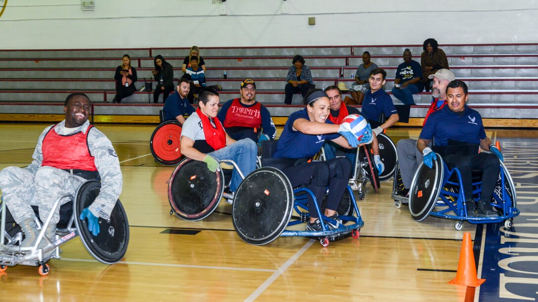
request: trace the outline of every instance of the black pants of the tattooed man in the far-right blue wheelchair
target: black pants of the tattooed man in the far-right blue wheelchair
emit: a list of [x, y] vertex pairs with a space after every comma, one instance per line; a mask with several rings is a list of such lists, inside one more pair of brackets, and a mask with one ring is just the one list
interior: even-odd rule
[[462, 174], [463, 191], [465, 199], [472, 198], [472, 170], [482, 171], [482, 201], [491, 202], [493, 190], [499, 179], [499, 159], [491, 153], [478, 153], [476, 155], [453, 155], [444, 157], [449, 169], [457, 167]]

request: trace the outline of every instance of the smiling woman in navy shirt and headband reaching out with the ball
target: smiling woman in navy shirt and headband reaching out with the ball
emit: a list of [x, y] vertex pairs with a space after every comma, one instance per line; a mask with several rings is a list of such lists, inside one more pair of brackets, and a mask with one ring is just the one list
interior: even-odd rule
[[[330, 114], [329, 97], [320, 89], [306, 96], [306, 107], [292, 113], [277, 142], [273, 158], [282, 159], [287, 167], [282, 172], [289, 178], [293, 187], [305, 185], [316, 197], [317, 204], [323, 201], [329, 187], [327, 208], [324, 215], [330, 221], [329, 227], [337, 228], [342, 223], [336, 209], [351, 177], [351, 162], [345, 157], [337, 157], [324, 162], [307, 162], [320, 152], [325, 140], [330, 140], [344, 148], [357, 148], [372, 140], [372, 129], [368, 124], [360, 140], [345, 125], [334, 125], [328, 119]], [[308, 199], [310, 221], [307, 231], [322, 231], [320, 218], [317, 217], [313, 200]]]

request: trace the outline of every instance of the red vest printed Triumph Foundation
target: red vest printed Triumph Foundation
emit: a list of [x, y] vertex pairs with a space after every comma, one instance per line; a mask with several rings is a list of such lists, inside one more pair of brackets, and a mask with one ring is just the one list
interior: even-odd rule
[[233, 99], [226, 119], [224, 120], [224, 128], [230, 127], [249, 127], [260, 128], [261, 126], [261, 104], [256, 102], [252, 107], [244, 107], [240, 104], [238, 98]]

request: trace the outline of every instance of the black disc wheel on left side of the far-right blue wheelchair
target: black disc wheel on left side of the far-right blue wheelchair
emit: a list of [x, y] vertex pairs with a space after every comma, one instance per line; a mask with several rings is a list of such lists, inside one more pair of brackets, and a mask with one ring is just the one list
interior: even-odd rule
[[421, 163], [416, 170], [409, 192], [409, 212], [416, 221], [428, 217], [437, 203], [441, 192], [444, 167], [441, 155], [437, 154], [433, 169]]

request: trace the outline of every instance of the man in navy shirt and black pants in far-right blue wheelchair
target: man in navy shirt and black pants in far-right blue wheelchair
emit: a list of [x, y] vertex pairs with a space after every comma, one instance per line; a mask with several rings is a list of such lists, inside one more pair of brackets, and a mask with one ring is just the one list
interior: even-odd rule
[[[486, 136], [480, 114], [465, 105], [468, 98], [467, 85], [463, 81], [450, 82], [447, 86], [447, 105], [430, 114], [416, 147], [424, 155], [424, 164], [431, 168], [433, 160], [437, 159], [436, 154], [428, 147], [431, 139], [435, 138], [436, 147], [457, 145], [458, 147], [452, 150], [445, 148], [443, 160], [449, 168], [457, 167], [461, 172], [468, 215], [475, 215], [471, 170], [476, 169], [482, 170], [482, 194], [478, 202], [477, 216], [495, 217], [497, 213], [493, 211], [490, 202], [499, 177], [499, 160], [502, 161], [503, 157]], [[471, 146], [468, 149], [472, 150], [470, 155], [458, 152], [469, 145]], [[478, 146], [492, 153], [478, 153]]]

